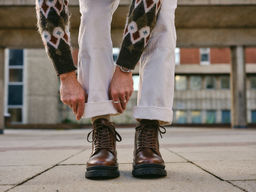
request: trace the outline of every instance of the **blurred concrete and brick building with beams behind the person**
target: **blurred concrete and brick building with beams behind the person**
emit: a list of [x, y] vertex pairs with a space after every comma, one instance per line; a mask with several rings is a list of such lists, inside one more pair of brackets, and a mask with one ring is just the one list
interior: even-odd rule
[[[117, 59], [129, 0], [121, 0], [112, 20]], [[77, 64], [80, 13], [69, 1], [71, 41]], [[178, 0], [173, 124], [246, 127], [256, 123], [256, 2]], [[11, 124], [90, 124], [75, 120], [60, 101], [60, 80], [36, 30], [34, 0], [0, 0], [0, 113]], [[139, 66], [127, 110], [113, 117], [135, 124]], [[0, 128], [4, 117], [0, 118]]]

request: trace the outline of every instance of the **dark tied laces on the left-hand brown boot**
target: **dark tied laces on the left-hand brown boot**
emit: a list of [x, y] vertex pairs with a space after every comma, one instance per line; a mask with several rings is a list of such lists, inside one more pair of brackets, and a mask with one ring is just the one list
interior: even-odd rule
[[[92, 141], [89, 141], [89, 136], [91, 133], [92, 133]], [[92, 131], [88, 133], [87, 141], [95, 142], [94, 143], [95, 151], [100, 148], [110, 148], [111, 150], [113, 150], [112, 136], [114, 136], [116, 141], [122, 140], [121, 136], [118, 134], [118, 132], [116, 132], [115, 128], [112, 125], [97, 124], [92, 129]], [[117, 139], [117, 137], [119, 139]]]

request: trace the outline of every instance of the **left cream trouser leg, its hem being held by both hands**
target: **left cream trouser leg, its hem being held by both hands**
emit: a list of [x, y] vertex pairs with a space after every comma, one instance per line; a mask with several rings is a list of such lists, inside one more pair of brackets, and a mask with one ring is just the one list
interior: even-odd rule
[[110, 23], [119, 0], [79, 0], [78, 81], [88, 94], [84, 118], [117, 114], [108, 88], [114, 73]]

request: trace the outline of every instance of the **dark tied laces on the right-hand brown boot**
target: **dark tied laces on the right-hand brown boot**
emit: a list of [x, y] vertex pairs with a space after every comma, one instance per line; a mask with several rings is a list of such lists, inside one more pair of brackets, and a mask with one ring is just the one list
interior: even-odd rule
[[[160, 130], [160, 127], [164, 129], [164, 131]], [[145, 123], [135, 128], [136, 131], [139, 132], [139, 145], [138, 149], [140, 148], [152, 148], [156, 149], [156, 132], [159, 131], [161, 138], [162, 134], [166, 132], [165, 128], [157, 123]]]

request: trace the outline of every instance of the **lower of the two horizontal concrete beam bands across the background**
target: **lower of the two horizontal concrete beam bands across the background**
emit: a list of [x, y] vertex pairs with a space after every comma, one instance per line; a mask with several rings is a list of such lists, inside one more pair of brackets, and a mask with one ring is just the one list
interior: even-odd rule
[[[112, 29], [114, 47], [119, 47], [123, 29]], [[177, 29], [177, 47], [256, 46], [256, 28], [251, 29]], [[0, 47], [43, 48], [36, 29], [0, 29]], [[78, 29], [71, 30], [71, 44], [78, 48]]]

